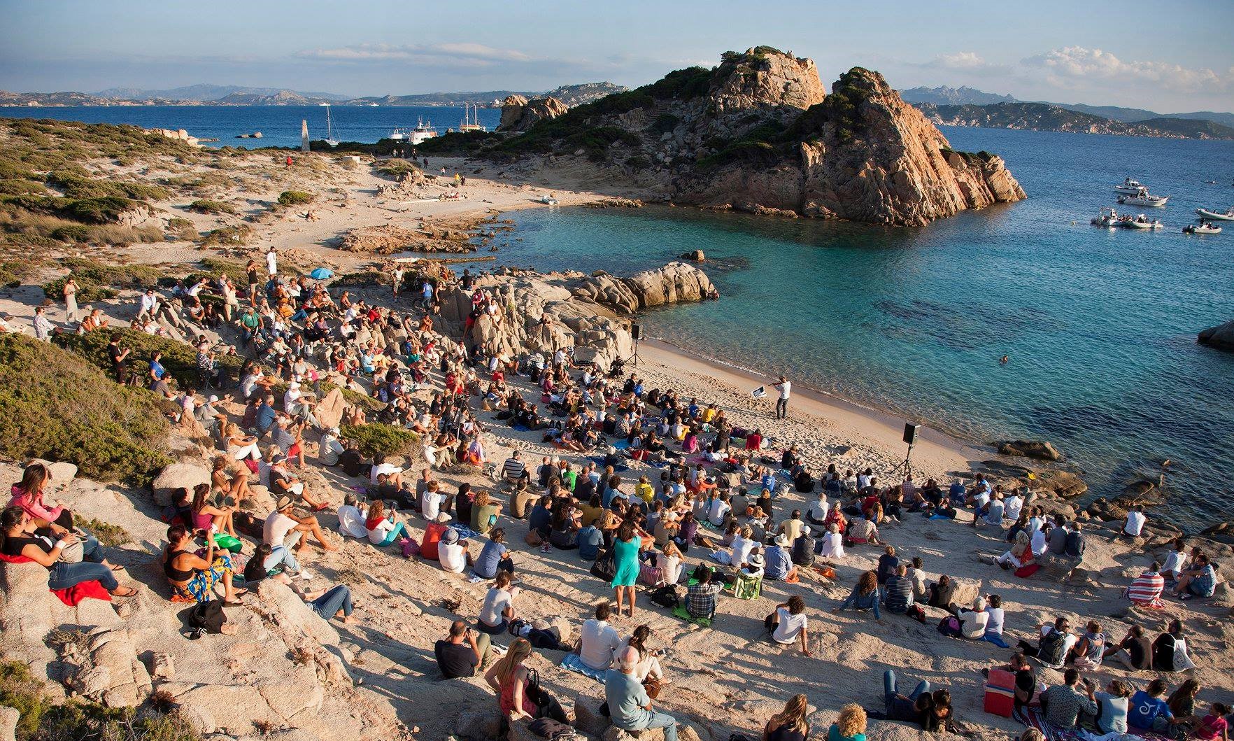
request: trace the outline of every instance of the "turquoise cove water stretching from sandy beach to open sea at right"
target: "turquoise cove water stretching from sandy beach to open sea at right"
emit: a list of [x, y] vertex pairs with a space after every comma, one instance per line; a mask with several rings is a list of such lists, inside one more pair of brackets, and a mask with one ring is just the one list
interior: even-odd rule
[[[927, 228], [538, 209], [499, 263], [628, 274], [703, 249], [722, 300], [649, 312], [653, 336], [975, 440], [1050, 440], [1099, 494], [1169, 458], [1181, 519], [1229, 510], [1234, 356], [1196, 333], [1234, 319], [1234, 228], [1181, 228], [1234, 203], [1234, 142], [945, 133], [1029, 200]], [[1174, 196], [1161, 232], [1088, 226], [1127, 175]]]

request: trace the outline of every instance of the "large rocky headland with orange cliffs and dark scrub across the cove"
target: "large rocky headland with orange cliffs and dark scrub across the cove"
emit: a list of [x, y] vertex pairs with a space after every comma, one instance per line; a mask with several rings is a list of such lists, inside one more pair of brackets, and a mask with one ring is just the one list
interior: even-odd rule
[[1025, 198], [1000, 157], [954, 151], [877, 72], [855, 67], [827, 93], [812, 61], [769, 47], [565, 117], [502, 153], [585, 156], [659, 200], [768, 215], [922, 226]]

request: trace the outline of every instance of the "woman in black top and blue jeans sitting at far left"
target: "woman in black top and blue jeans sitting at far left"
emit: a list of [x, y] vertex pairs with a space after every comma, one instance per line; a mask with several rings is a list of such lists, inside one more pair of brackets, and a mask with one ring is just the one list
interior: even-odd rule
[[[58, 540], [53, 541], [53, 537]], [[121, 587], [116, 580], [114, 572], [121, 571], [121, 567], [107, 563], [97, 541], [83, 543], [79, 563], [60, 561], [64, 551], [78, 543], [83, 541], [72, 532], [53, 535], [47, 529], [39, 529], [30, 513], [20, 506], [10, 506], [0, 513], [0, 553], [10, 558], [28, 558], [47, 568], [48, 589], [72, 589], [83, 582], [94, 580], [112, 597], [137, 594], [136, 589]]]

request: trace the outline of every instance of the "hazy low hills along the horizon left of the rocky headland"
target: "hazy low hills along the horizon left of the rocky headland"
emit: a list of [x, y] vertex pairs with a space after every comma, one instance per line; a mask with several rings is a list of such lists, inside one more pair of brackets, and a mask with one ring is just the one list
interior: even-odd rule
[[552, 95], [566, 106], [598, 100], [626, 88], [613, 83], [582, 83], [561, 85], [554, 90], [489, 90], [485, 93], [427, 93], [420, 95], [385, 95], [347, 98], [333, 93], [300, 93], [280, 88], [243, 88], [238, 85], [188, 85], [169, 90], [109, 88], [99, 93], [9, 93], [0, 90], [0, 106], [78, 106], [78, 105], [501, 105], [510, 95], [538, 98]]

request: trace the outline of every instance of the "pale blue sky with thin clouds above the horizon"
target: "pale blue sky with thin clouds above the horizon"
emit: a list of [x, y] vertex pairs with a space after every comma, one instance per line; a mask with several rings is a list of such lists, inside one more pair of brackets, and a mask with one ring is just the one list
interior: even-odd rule
[[823, 83], [863, 65], [898, 89], [1234, 110], [1234, 0], [0, 0], [0, 89], [196, 83], [343, 95], [654, 82], [768, 44]]

